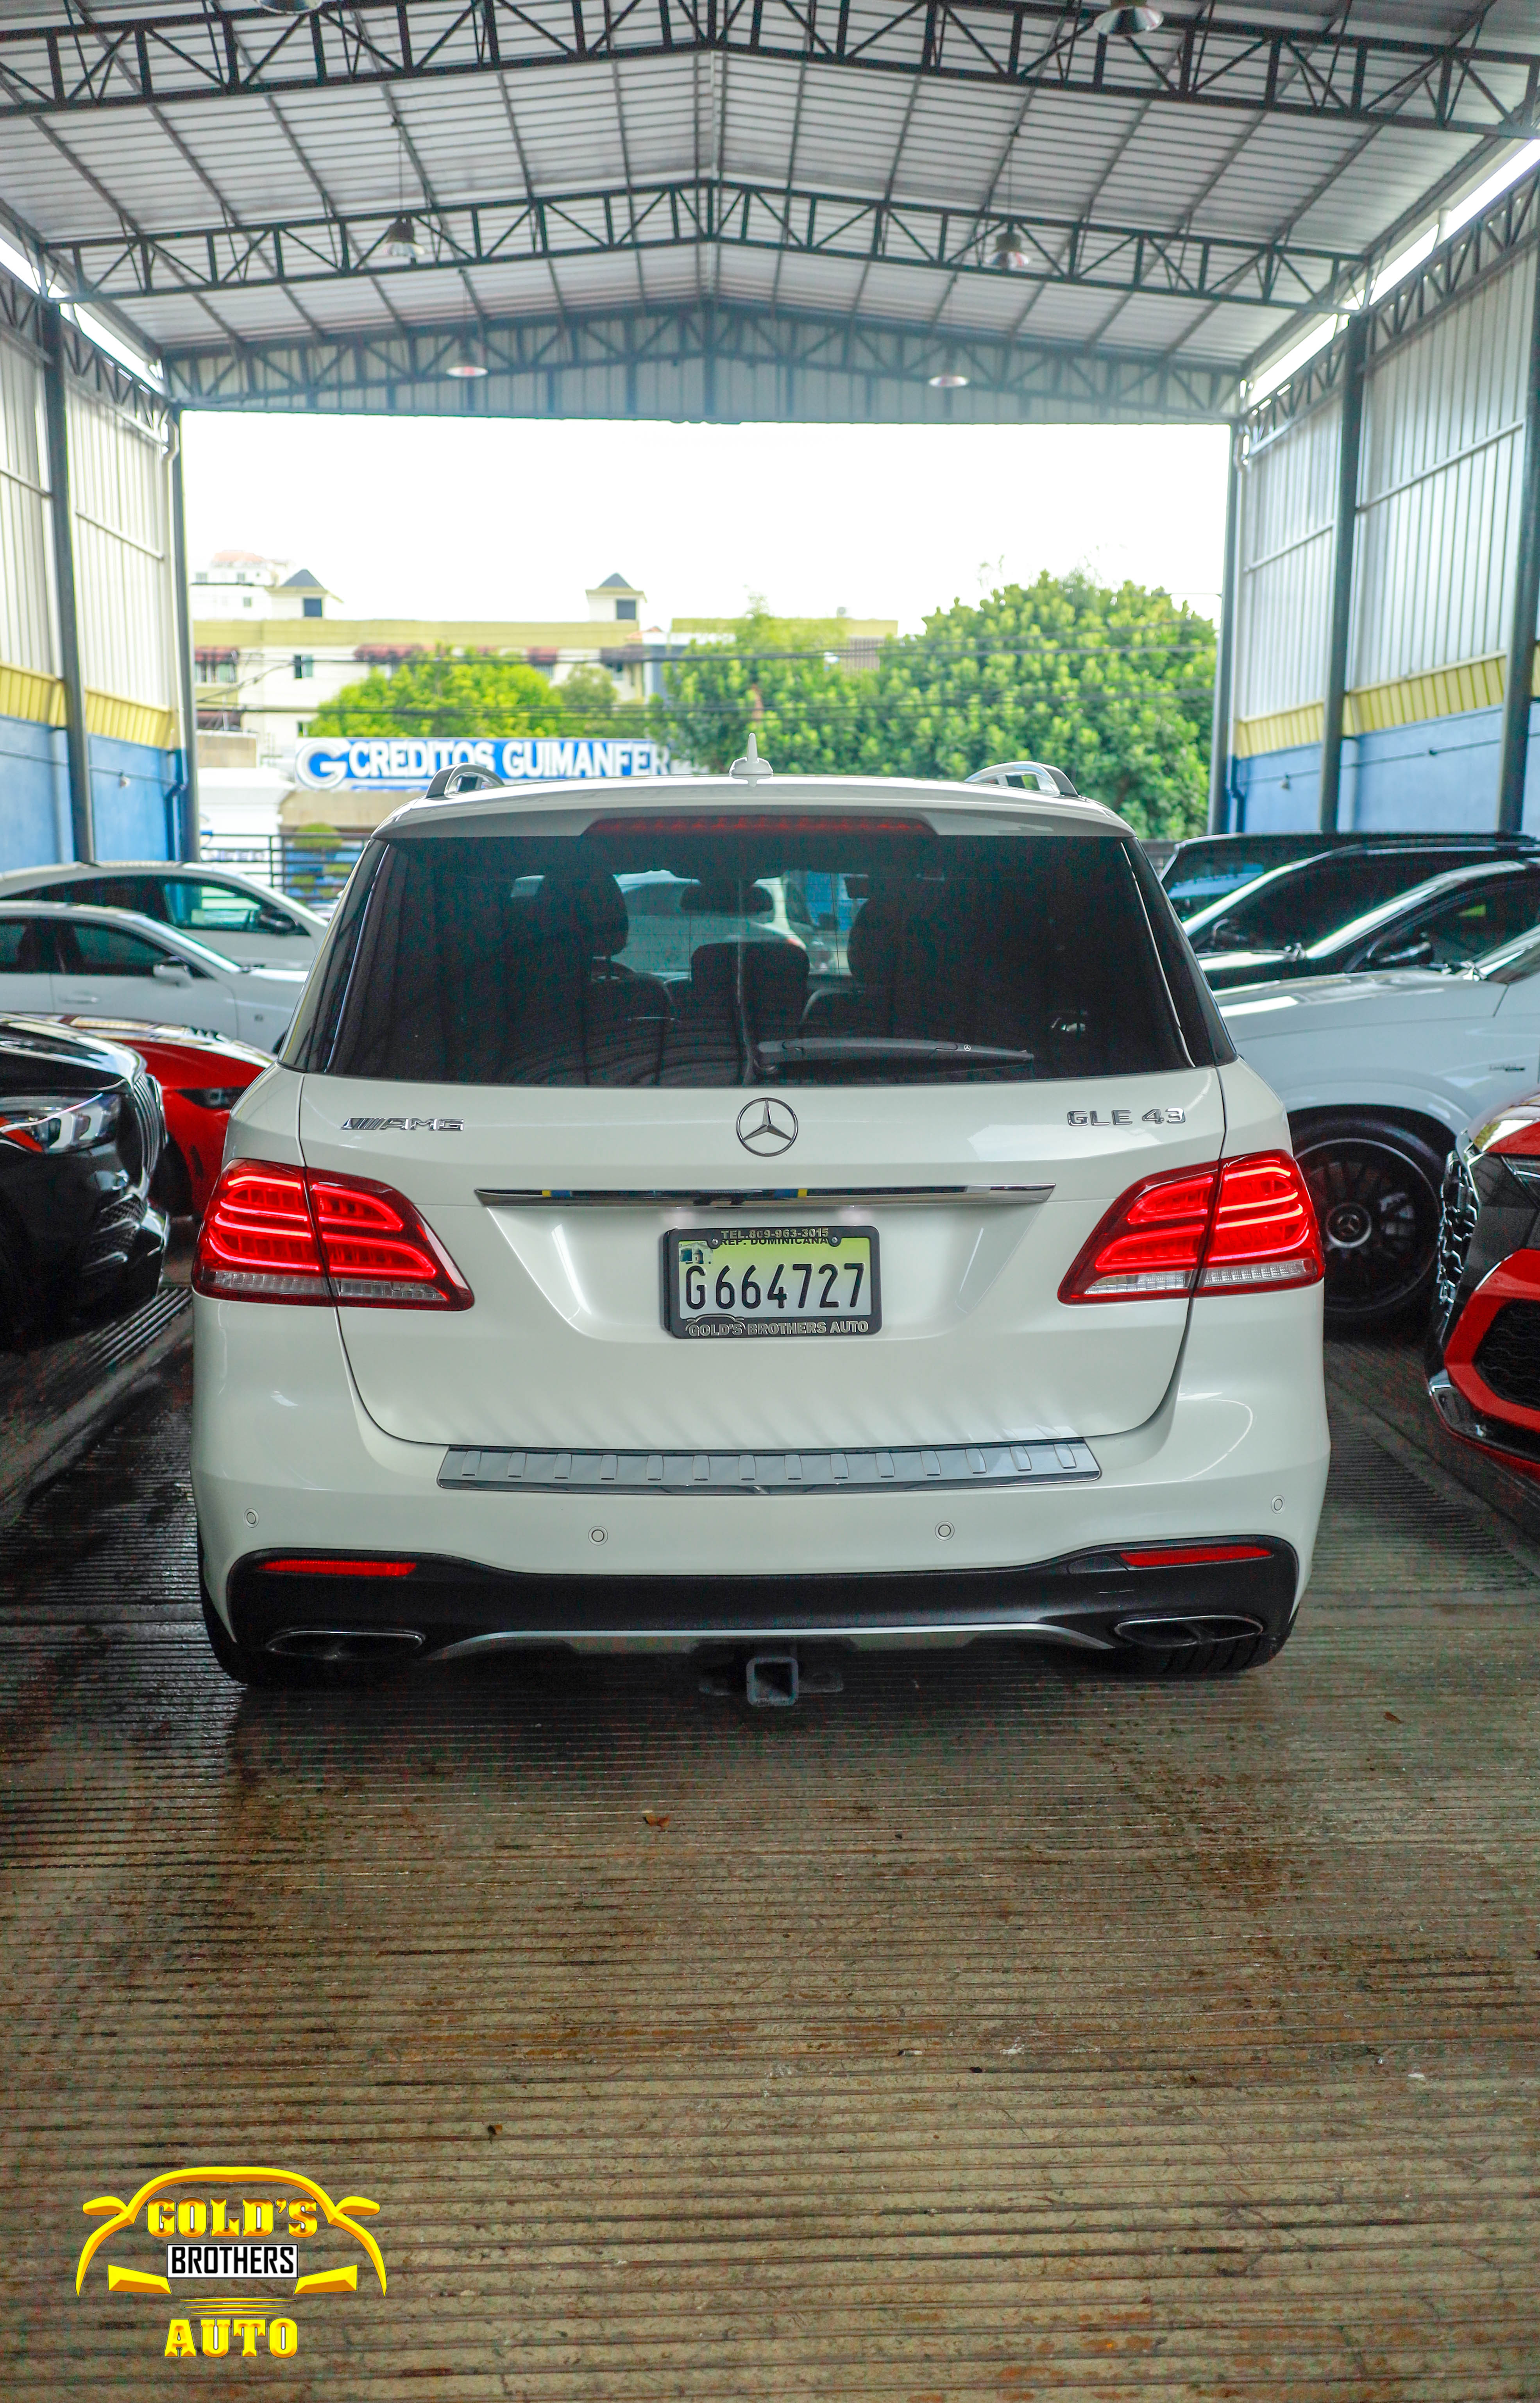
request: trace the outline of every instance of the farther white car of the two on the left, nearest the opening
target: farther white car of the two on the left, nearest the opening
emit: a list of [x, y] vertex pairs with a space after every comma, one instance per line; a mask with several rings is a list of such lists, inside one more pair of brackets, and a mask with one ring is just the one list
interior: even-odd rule
[[65, 901], [72, 908], [132, 908], [171, 932], [192, 935], [247, 968], [308, 971], [327, 920], [238, 867], [199, 860], [62, 860], [0, 875], [0, 901]]

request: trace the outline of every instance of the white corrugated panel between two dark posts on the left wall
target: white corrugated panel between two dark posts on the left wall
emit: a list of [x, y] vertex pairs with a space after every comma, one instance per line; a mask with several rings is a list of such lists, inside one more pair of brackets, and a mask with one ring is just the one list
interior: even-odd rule
[[166, 445], [70, 387], [79, 658], [94, 692], [175, 709]]

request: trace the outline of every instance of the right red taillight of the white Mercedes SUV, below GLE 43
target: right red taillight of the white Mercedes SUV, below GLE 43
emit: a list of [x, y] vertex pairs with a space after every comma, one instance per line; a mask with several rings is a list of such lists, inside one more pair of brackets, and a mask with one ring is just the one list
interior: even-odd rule
[[1112, 1204], [1062, 1302], [1139, 1302], [1180, 1293], [1314, 1286], [1321, 1238], [1288, 1151], [1144, 1177]]

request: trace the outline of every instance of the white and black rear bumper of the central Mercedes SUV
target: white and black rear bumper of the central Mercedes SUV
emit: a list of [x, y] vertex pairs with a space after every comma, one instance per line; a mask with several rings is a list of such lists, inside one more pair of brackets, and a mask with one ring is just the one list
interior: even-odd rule
[[[1199, 1305], [1156, 1415], [1091, 1439], [1093, 1478], [978, 1475], [944, 1492], [896, 1480], [807, 1492], [444, 1487], [442, 1444], [389, 1437], [365, 1413], [329, 1310], [197, 1295], [195, 1343], [199, 1536], [209, 1598], [238, 1634], [238, 1615], [257, 1610], [269, 1584], [291, 1596], [279, 1608], [296, 1608], [293, 1581], [262, 1574], [257, 1588], [257, 1555], [368, 1552], [432, 1562], [416, 1591], [440, 1596], [442, 1624], [509, 1641], [877, 1641], [1050, 1632], [1050, 1617], [1074, 1641], [1064, 1610], [1122, 1610], [1134, 1586], [1148, 1593], [1146, 1579], [1168, 1572], [1098, 1593], [1072, 1562], [1237, 1536], [1285, 1564], [1259, 1576], [1266, 1610], [1247, 1605], [1276, 1627], [1305, 1591], [1326, 1487], [1319, 1288]], [[382, 1581], [368, 1584], [377, 1612]], [[324, 1581], [332, 1610], [341, 1586]], [[473, 1608], [456, 1600], [471, 1588]], [[1196, 1608], [1192, 1579], [1180, 1605]]]

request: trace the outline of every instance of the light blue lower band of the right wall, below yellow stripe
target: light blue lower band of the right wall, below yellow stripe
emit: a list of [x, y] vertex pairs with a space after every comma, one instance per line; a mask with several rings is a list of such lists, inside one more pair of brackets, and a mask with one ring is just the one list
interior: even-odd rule
[[[1420, 718], [1343, 743], [1338, 824], [1365, 834], [1485, 834], [1497, 819], [1502, 709]], [[1321, 807], [1321, 750], [1259, 752], [1230, 762], [1230, 824], [1249, 834], [1314, 827]], [[1530, 709], [1526, 834], [1540, 834], [1540, 702]]]

